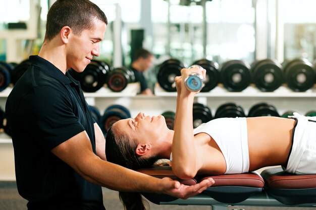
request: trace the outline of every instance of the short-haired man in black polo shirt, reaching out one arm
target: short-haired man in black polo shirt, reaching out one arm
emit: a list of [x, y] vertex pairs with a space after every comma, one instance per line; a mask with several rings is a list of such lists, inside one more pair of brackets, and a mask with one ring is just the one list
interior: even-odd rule
[[186, 186], [107, 161], [104, 135], [68, 72], [83, 72], [99, 56], [107, 24], [88, 0], [57, 0], [39, 54], [30, 56], [31, 66], [8, 96], [16, 182], [29, 210], [104, 210], [101, 186], [185, 199], [214, 183]]

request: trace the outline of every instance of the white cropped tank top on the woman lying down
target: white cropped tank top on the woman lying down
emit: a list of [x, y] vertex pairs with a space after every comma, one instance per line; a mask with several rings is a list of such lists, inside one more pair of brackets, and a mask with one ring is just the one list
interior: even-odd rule
[[226, 161], [225, 174], [249, 171], [247, 121], [244, 117], [218, 118], [199, 125], [193, 134], [207, 133], [221, 149]]

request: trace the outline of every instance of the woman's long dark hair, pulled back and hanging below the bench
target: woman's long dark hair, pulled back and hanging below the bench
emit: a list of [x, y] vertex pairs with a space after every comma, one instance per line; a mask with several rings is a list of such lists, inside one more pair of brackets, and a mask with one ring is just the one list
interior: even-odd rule
[[[113, 124], [106, 135], [106, 156], [109, 162], [137, 170], [152, 166], [157, 157], [139, 157], [135, 150], [137, 141], [132, 141], [129, 136], [120, 132]], [[119, 192], [120, 200], [126, 210], [145, 210], [144, 199], [137, 192]]]

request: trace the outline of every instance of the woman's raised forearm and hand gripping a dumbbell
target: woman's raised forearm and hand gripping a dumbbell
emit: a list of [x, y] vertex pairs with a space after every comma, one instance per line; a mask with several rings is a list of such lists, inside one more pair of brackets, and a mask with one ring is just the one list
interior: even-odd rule
[[197, 92], [190, 92], [184, 85], [185, 78], [193, 72], [202, 74], [205, 78], [205, 70], [201, 71], [198, 67], [183, 68], [181, 76], [175, 78], [178, 95], [172, 144], [172, 170], [181, 179], [193, 178], [198, 170], [192, 116], [194, 96]]

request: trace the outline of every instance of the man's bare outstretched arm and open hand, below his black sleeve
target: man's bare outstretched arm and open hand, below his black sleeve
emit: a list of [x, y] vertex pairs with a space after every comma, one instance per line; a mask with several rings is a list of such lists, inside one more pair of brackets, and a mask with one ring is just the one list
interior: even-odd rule
[[122, 166], [103, 161], [91, 149], [85, 131], [71, 137], [51, 152], [71, 166], [86, 180], [113, 190], [164, 193], [188, 198], [214, 183], [213, 179], [186, 186], [169, 178], [154, 178]]

